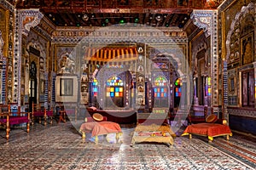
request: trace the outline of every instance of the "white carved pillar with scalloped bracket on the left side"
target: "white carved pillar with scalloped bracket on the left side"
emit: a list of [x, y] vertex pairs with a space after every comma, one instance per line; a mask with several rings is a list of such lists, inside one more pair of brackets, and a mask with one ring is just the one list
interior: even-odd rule
[[21, 86], [21, 45], [22, 35], [27, 36], [32, 26], [37, 26], [43, 18], [39, 9], [18, 10], [15, 9], [15, 27], [14, 27], [14, 90], [13, 102], [20, 106], [20, 86]]

